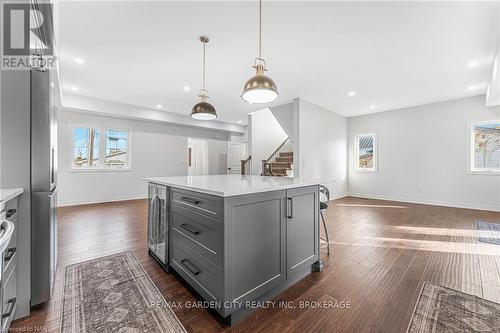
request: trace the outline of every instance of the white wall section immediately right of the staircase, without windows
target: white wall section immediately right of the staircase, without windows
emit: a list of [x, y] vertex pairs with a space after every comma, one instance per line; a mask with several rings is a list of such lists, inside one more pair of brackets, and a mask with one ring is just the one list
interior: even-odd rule
[[345, 196], [348, 190], [347, 119], [303, 99], [297, 102], [297, 174], [301, 179], [323, 179], [332, 198]]

